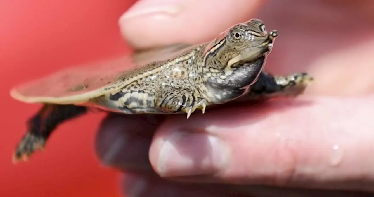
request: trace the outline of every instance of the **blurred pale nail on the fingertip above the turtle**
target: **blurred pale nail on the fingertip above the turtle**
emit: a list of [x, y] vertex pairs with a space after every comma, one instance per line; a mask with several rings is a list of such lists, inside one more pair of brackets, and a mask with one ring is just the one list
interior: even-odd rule
[[180, 9], [180, 4], [175, 0], [140, 0], [123, 14], [120, 20], [148, 14], [175, 15]]

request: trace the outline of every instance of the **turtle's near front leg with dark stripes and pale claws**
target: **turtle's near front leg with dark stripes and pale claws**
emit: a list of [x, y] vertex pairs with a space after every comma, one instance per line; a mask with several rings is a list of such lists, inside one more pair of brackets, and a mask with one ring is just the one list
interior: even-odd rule
[[202, 113], [205, 113], [206, 100], [188, 84], [160, 87], [155, 96], [155, 104], [162, 112], [186, 112], [187, 118], [190, 118], [191, 113], [196, 109], [200, 109]]

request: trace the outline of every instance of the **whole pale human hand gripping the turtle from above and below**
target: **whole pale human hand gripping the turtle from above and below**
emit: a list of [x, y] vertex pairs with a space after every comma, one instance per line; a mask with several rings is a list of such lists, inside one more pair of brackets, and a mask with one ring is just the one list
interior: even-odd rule
[[128, 197], [374, 194], [374, 1], [216, 2], [140, 0], [119, 25], [141, 49], [198, 43], [259, 18], [279, 30], [266, 70], [305, 71], [315, 82], [296, 99], [229, 106], [190, 119], [109, 116], [96, 149], [102, 163], [122, 170], [122, 192]]

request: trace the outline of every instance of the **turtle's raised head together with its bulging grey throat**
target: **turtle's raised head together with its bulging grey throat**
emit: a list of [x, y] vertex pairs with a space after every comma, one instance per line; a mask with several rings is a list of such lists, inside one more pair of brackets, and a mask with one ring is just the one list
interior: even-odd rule
[[246, 87], [254, 84], [263, 70], [277, 36], [277, 30], [268, 32], [259, 19], [236, 24], [221, 33], [203, 50], [206, 85], [218, 95], [220, 90], [248, 90]]

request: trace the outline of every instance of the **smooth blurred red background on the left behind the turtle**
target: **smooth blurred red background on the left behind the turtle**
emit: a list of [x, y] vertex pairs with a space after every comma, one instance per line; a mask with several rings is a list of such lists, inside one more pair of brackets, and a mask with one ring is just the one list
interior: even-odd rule
[[9, 89], [74, 64], [129, 51], [119, 16], [135, 0], [0, 1], [0, 196], [115, 197], [116, 172], [103, 167], [94, 139], [103, 113], [58, 127], [47, 148], [27, 163], [12, 152], [39, 105], [13, 100]]

